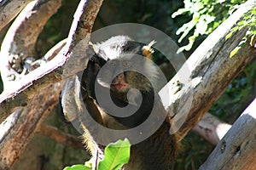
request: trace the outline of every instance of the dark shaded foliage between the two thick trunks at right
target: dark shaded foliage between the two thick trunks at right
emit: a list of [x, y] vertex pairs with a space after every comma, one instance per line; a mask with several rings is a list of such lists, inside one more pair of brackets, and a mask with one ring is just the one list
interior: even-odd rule
[[248, 65], [238, 77], [230, 83], [224, 94], [215, 102], [210, 112], [232, 124], [242, 111], [255, 98], [256, 61]]

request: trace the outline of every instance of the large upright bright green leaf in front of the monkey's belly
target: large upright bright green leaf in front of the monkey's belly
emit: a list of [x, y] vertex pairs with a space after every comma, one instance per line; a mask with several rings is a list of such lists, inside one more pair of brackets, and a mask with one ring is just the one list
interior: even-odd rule
[[105, 148], [104, 159], [99, 162], [98, 170], [117, 170], [128, 163], [131, 144], [128, 139], [118, 140]]

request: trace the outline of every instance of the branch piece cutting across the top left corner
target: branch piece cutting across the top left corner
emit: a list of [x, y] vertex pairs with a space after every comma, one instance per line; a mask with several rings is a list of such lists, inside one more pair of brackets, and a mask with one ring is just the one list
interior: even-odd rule
[[0, 2], [0, 31], [32, 0], [3, 0]]

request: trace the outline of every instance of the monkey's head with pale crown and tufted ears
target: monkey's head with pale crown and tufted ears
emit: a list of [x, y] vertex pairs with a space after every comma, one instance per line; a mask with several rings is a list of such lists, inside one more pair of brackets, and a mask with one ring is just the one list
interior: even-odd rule
[[91, 44], [97, 57], [105, 60], [96, 81], [113, 94], [127, 94], [131, 89], [147, 92], [156, 88], [158, 67], [151, 60], [152, 46], [134, 42], [130, 37], [117, 36], [106, 42]]

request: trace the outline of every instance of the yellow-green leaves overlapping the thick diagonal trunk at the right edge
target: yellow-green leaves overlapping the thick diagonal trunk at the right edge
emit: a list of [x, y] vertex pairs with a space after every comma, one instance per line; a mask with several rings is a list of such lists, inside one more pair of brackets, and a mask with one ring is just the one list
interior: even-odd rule
[[250, 40], [250, 45], [251, 46], [255, 46], [255, 44], [253, 44], [253, 39], [254, 37], [256, 37], [256, 8], [253, 8], [252, 11], [248, 12], [247, 14], [245, 14], [244, 16], [244, 20], [241, 20], [240, 22], [238, 22], [237, 26], [234, 27], [230, 33], [226, 36], [226, 40], [229, 39], [230, 37], [232, 37], [232, 35], [236, 32], [236, 31], [240, 31], [242, 28], [247, 26], [247, 33], [246, 36], [242, 38], [241, 42], [238, 44], [238, 46], [233, 49], [233, 51], [231, 51], [230, 53], [230, 58], [233, 57], [238, 50], [247, 42], [247, 40]]

